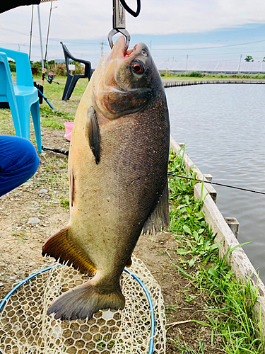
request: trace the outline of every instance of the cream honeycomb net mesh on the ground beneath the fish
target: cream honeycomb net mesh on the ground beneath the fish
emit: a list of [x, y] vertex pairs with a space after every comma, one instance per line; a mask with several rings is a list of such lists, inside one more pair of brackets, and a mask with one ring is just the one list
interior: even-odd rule
[[[153, 353], [165, 353], [165, 312], [160, 286], [141, 260], [132, 257], [131, 273], [146, 286], [153, 302]], [[60, 321], [47, 316], [49, 304], [88, 277], [68, 265], [39, 273], [13, 292], [0, 313], [1, 354], [148, 353], [151, 311], [139, 282], [122, 274], [124, 310], [103, 310], [88, 320]]]

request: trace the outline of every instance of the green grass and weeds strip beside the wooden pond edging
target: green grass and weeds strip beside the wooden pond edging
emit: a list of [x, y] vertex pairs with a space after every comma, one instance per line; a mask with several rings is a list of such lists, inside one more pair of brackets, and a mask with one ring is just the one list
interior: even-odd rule
[[[175, 156], [170, 153], [169, 171], [195, 177], [194, 173], [187, 174], [183, 157], [179, 154]], [[222, 338], [225, 353], [264, 353], [261, 321], [254, 310], [257, 289], [252, 288], [250, 279], [245, 282], [235, 278], [230, 265], [226, 263], [231, 249], [223, 258], [220, 257], [220, 244], [214, 244], [213, 232], [204, 220], [204, 200], [194, 198], [195, 183], [194, 180], [176, 177], [170, 177], [169, 181], [172, 206], [170, 232], [182, 244], [176, 250], [183, 257], [184, 264], [182, 268], [178, 265], [175, 267], [206, 295], [208, 305], [208, 321], [196, 322], [211, 328], [212, 342], [214, 336]], [[192, 299], [188, 300], [192, 302]], [[186, 350], [184, 353], [193, 352]]]

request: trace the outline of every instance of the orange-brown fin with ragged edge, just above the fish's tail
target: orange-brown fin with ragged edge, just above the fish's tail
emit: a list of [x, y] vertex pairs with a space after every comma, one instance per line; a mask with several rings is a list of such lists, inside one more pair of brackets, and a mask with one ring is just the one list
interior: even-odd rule
[[69, 261], [73, 268], [89, 276], [95, 275], [96, 268], [86, 254], [68, 237], [68, 227], [49, 237], [42, 246], [42, 256], [52, 256], [60, 263]]

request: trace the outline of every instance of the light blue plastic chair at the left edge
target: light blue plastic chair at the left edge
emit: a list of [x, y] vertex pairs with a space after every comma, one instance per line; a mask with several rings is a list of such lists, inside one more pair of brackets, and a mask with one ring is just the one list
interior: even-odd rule
[[[0, 102], [8, 102], [16, 135], [30, 140], [30, 112], [33, 118], [37, 151], [42, 152], [40, 107], [37, 88], [33, 84], [30, 59], [26, 53], [0, 47]], [[13, 86], [7, 58], [16, 62], [16, 86]]]

